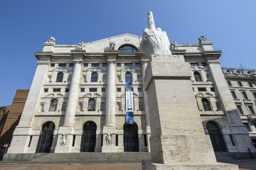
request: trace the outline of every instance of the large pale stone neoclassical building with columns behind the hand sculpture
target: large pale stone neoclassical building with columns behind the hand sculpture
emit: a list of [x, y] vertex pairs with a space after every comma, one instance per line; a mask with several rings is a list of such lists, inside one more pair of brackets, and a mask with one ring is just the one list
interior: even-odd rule
[[[36, 73], [8, 153], [150, 152], [149, 59], [139, 50], [141, 40], [124, 34], [56, 45], [51, 37], [35, 52]], [[215, 152], [255, 152], [225, 81], [230, 77], [220, 68], [221, 51], [203, 36], [198, 44], [172, 42], [170, 48], [191, 65], [196, 109]], [[126, 82], [133, 87], [134, 125], [126, 123]], [[251, 83], [255, 87], [255, 78]], [[255, 101], [250, 104], [255, 111]]]

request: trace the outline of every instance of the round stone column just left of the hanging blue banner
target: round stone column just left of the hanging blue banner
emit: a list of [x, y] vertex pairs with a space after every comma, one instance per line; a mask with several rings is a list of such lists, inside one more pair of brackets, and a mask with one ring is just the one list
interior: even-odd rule
[[[116, 152], [115, 147], [115, 108], [116, 108], [116, 71], [115, 61], [118, 54], [117, 50], [106, 50], [107, 55], [107, 96], [106, 96], [106, 115], [105, 115], [105, 126], [103, 127], [103, 145], [102, 152]], [[112, 145], [107, 145], [106, 137], [107, 134], [112, 136]]]

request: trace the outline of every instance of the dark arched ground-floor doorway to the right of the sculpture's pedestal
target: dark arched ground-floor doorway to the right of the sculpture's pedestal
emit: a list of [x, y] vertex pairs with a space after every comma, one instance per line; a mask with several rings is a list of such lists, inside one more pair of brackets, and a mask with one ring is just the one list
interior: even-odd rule
[[227, 152], [227, 148], [225, 146], [225, 142], [223, 139], [223, 134], [221, 130], [218, 128], [218, 125], [216, 125], [216, 123], [209, 121], [206, 124], [206, 128], [210, 135], [210, 141], [212, 142], [213, 150], [215, 152]]

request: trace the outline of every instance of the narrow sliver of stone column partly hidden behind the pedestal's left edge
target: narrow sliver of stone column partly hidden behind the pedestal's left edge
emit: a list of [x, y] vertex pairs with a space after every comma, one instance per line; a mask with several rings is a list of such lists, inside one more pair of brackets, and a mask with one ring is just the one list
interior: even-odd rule
[[147, 94], [145, 91], [145, 82], [144, 82], [145, 70], [148, 62], [149, 62], [148, 59], [142, 59], [143, 98], [144, 98], [144, 111], [146, 114], [146, 143], [148, 144], [148, 150], [150, 152], [149, 137], [151, 135], [151, 130], [150, 130], [150, 120], [149, 120], [149, 103], [148, 103]]

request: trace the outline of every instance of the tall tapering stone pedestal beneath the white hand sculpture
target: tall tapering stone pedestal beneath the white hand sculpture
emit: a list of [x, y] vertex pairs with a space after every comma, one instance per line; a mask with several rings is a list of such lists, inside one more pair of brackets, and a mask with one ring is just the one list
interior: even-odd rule
[[151, 160], [143, 169], [238, 169], [218, 164], [205, 135], [183, 55], [152, 55], [144, 77]]

